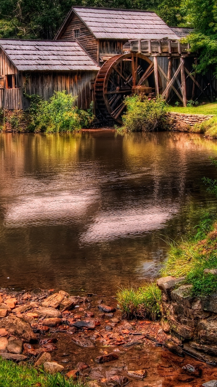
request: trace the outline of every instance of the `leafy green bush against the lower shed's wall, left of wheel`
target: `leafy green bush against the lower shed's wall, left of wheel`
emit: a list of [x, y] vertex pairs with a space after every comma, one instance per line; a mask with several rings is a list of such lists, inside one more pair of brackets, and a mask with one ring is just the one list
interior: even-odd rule
[[34, 132], [73, 132], [88, 128], [94, 120], [93, 104], [90, 109], [82, 110], [74, 106], [75, 98], [66, 91], [56, 91], [49, 101], [33, 94], [29, 114], [29, 129]]

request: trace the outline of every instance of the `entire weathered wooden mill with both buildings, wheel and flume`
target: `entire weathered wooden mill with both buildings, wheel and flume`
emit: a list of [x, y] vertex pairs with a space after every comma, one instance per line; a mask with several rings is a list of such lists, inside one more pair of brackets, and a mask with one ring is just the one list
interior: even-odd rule
[[183, 104], [212, 95], [214, 83], [198, 84], [191, 74], [195, 55], [180, 43], [188, 32], [154, 12], [73, 7], [54, 41], [0, 39], [0, 107], [26, 110], [23, 91], [47, 100], [66, 90], [81, 108], [95, 99], [99, 118], [109, 123], [120, 122], [123, 98], [134, 92]]

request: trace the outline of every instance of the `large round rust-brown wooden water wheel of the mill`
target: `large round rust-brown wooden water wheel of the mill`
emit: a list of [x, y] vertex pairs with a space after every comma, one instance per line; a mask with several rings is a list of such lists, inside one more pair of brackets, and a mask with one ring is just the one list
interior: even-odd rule
[[[159, 94], [162, 92], [161, 77], [158, 73]], [[153, 62], [140, 53], [115, 55], [100, 68], [95, 80], [97, 109], [109, 122], [111, 117], [122, 123], [124, 98], [143, 92], [155, 93]]]

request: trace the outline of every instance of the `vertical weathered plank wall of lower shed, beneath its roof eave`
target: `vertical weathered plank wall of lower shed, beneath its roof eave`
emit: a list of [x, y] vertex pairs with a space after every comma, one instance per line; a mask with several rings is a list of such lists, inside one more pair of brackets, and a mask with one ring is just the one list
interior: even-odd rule
[[[92, 81], [97, 71], [74, 72], [32, 72], [22, 73], [21, 89], [31, 95], [39, 94], [46, 101], [53, 96], [54, 91], [66, 90], [67, 94], [78, 97], [75, 105], [87, 109], [93, 100]], [[29, 107], [29, 99], [23, 97], [23, 109]]]

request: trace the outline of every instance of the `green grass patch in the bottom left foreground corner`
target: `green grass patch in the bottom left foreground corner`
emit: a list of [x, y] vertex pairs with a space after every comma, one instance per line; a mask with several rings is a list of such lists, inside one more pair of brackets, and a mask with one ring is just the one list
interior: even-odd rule
[[49, 375], [31, 365], [17, 365], [0, 357], [0, 387], [83, 387], [79, 380], [66, 380], [60, 373]]

